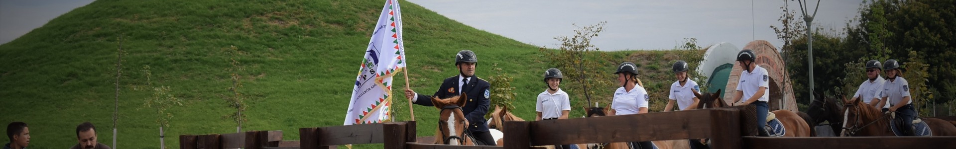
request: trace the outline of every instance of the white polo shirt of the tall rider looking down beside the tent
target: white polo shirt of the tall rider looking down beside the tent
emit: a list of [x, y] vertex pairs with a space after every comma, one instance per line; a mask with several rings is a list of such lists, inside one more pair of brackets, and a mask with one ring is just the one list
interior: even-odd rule
[[758, 101], [769, 101], [769, 96], [771, 95], [770, 87], [770, 76], [767, 75], [767, 70], [760, 67], [760, 65], [753, 64], [757, 66], [753, 68], [753, 72], [743, 71], [740, 72], [740, 83], [737, 83], [737, 91], [743, 91], [744, 95], [741, 96], [741, 100], [747, 102], [751, 96], [757, 94], [757, 90], [760, 87], [765, 87], [764, 96], [757, 98]]

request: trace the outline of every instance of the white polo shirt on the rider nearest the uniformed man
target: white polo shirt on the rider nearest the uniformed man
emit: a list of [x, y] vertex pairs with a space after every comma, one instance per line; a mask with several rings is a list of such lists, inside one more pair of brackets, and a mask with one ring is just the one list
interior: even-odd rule
[[534, 111], [541, 113], [541, 119], [561, 117], [561, 111], [571, 110], [571, 98], [568, 93], [557, 89], [554, 95], [548, 93], [547, 89], [538, 94], [537, 103]]

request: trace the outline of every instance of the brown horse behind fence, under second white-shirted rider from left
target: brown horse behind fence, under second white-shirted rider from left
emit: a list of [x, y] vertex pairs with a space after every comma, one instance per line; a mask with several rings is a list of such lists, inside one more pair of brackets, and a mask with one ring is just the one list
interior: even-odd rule
[[[584, 107], [584, 113], [587, 115], [587, 117], [604, 117], [604, 116], [607, 116], [607, 114], [610, 112], [609, 110], [603, 107], [593, 107], [593, 108]], [[658, 149], [689, 149], [690, 148], [687, 139], [654, 140], [652, 142], [654, 142], [654, 145], [657, 145]], [[630, 147], [627, 145], [627, 142], [611, 142], [611, 143], [577, 144], [577, 148], [628, 149]]]

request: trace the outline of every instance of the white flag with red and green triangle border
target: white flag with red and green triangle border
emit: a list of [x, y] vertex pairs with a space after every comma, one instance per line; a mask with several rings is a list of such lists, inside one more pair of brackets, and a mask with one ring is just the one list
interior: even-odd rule
[[391, 119], [392, 76], [405, 68], [401, 12], [398, 1], [385, 1], [356, 76], [344, 125]]

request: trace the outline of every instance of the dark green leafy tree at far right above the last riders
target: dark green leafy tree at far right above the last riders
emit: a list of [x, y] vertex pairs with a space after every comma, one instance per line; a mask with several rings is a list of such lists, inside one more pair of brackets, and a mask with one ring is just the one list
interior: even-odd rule
[[[847, 47], [867, 52], [871, 59], [915, 61], [909, 51], [926, 54], [928, 88], [956, 96], [956, 3], [951, 0], [864, 1], [857, 26], [847, 29]], [[848, 23], [849, 24], [849, 23]], [[937, 101], [945, 102], [945, 101]]]

